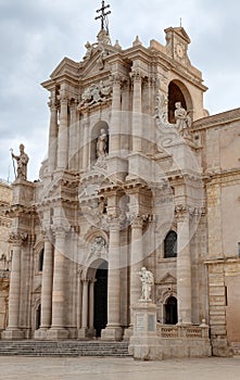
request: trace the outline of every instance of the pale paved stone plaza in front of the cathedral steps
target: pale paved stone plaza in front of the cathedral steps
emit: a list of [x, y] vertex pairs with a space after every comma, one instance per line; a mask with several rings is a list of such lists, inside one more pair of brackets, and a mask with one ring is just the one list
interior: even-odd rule
[[0, 357], [4, 380], [230, 380], [239, 379], [240, 357], [135, 362], [131, 358]]

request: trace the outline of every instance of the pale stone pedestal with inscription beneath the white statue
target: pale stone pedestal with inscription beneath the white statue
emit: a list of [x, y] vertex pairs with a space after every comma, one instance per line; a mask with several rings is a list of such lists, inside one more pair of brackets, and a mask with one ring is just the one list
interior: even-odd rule
[[132, 307], [134, 334], [129, 353], [139, 360], [162, 359], [162, 345], [156, 334], [156, 305], [151, 301], [139, 301]]

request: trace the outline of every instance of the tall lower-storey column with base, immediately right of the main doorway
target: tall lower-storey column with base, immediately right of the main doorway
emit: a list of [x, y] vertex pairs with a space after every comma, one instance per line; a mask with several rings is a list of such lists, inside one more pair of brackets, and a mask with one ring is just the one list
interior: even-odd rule
[[118, 218], [110, 223], [109, 278], [108, 278], [108, 326], [102, 339], [122, 340], [121, 327], [121, 226]]

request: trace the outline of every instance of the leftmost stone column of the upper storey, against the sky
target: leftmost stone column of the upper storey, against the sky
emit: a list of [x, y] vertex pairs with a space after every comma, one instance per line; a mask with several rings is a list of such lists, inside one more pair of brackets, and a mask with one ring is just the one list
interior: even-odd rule
[[56, 166], [56, 148], [58, 148], [58, 106], [55, 104], [55, 93], [52, 93], [49, 102], [50, 107], [50, 126], [49, 126], [49, 172], [52, 173]]

